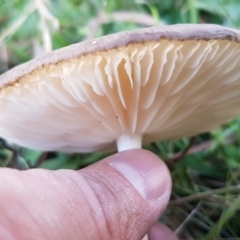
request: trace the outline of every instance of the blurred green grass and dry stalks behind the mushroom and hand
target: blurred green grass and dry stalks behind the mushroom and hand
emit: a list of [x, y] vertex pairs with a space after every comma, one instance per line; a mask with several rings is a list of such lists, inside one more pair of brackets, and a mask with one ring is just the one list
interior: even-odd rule
[[[0, 0], [0, 71], [84, 39], [176, 23], [240, 28], [240, 1]], [[180, 238], [240, 238], [239, 123], [240, 119], [233, 120], [195, 141], [144, 146], [170, 168], [172, 200], [161, 221]], [[186, 148], [188, 153], [181, 156]], [[80, 169], [105, 156], [39, 152], [8, 146], [4, 140], [0, 144], [0, 166], [18, 169]]]

